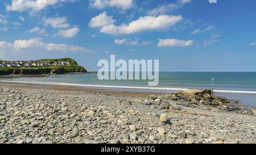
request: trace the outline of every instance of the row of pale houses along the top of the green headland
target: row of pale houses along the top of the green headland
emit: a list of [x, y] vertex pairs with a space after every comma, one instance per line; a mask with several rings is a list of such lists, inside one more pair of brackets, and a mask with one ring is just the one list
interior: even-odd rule
[[0, 67], [14, 67], [14, 68], [35, 68], [46, 66], [70, 66], [68, 61], [58, 61], [51, 64], [49, 61], [10, 61], [0, 62]]

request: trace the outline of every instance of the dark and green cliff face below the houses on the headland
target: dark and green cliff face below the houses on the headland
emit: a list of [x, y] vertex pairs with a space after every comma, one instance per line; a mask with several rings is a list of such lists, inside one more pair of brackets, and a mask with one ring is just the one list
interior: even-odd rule
[[[60, 60], [67, 60], [60, 59]], [[40, 74], [66, 74], [66, 73], [87, 73], [83, 66], [79, 66], [75, 60], [69, 59], [70, 66], [49, 66], [44, 68], [0, 68], [0, 76], [14, 75], [40, 75]]]

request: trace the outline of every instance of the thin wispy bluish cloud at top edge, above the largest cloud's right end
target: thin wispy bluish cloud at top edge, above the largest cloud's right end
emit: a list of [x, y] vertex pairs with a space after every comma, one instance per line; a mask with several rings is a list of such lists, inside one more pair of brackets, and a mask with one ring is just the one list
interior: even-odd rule
[[181, 7], [184, 6], [185, 3], [189, 3], [191, 0], [179, 0], [176, 2], [172, 2], [168, 5], [159, 5], [158, 7], [155, 7], [152, 10], [148, 10], [147, 14], [148, 15], [163, 15], [166, 12], [171, 12], [176, 9], [180, 9]]

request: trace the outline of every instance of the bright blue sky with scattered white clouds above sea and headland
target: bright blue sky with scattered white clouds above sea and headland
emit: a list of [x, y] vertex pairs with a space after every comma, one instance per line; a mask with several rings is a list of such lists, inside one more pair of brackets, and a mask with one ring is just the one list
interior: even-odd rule
[[0, 59], [159, 59], [160, 71], [256, 72], [256, 1], [4, 0]]

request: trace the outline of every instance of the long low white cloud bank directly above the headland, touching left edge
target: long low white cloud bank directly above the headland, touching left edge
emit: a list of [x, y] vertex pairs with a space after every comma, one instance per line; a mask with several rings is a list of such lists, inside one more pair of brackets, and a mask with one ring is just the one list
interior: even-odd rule
[[73, 45], [43, 43], [40, 37], [29, 40], [16, 40], [13, 44], [0, 41], [0, 52], [5, 52], [6, 50], [13, 52], [92, 52], [90, 49]]

